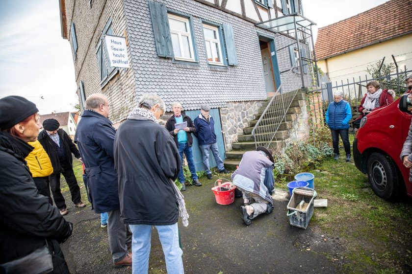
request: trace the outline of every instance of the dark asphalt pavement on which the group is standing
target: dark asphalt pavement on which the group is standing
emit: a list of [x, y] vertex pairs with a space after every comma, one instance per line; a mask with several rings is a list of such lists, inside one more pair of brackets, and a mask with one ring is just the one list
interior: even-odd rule
[[[307, 229], [290, 226], [284, 201], [274, 201], [272, 213], [262, 214], [245, 226], [240, 213], [243, 199], [237, 198], [228, 206], [218, 205], [211, 191], [214, 180], [203, 177], [203, 186], [188, 186], [183, 192], [190, 216], [186, 228], [179, 221], [186, 274], [340, 272], [339, 264], [332, 259], [338, 254], [339, 239], [329, 238], [316, 225], [309, 224]], [[75, 208], [69, 197], [66, 203], [70, 212], [65, 218], [75, 226], [73, 235], [61, 245], [70, 271], [131, 273], [131, 267], [112, 268], [107, 230], [100, 228], [100, 215], [91, 210], [90, 204]], [[315, 208], [314, 214], [316, 210], [322, 209]], [[166, 273], [155, 228], [149, 273]]]

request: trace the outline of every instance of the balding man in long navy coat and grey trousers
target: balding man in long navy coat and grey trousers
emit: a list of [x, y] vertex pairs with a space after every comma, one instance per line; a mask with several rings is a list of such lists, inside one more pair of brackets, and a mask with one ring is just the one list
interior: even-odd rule
[[[120, 220], [119, 187], [113, 162], [115, 129], [109, 116], [109, 102], [103, 94], [86, 99], [75, 142], [87, 175], [89, 198], [96, 213], [108, 213], [107, 234], [114, 267], [131, 265], [131, 242], [127, 225]], [[130, 231], [129, 231], [130, 232]]]

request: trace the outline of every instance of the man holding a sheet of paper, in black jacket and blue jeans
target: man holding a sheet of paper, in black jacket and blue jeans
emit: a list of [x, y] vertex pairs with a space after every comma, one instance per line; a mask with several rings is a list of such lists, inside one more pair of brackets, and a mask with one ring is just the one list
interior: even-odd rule
[[182, 114], [182, 107], [180, 103], [172, 104], [173, 115], [166, 122], [166, 129], [170, 135], [175, 139], [176, 145], [179, 149], [180, 159], [182, 165], [180, 166], [179, 182], [182, 184], [181, 191], [186, 190], [184, 184], [185, 179], [183, 175], [183, 152], [186, 155], [187, 165], [189, 166], [190, 173], [192, 174], [192, 184], [201, 186], [198, 176], [196, 174], [195, 161], [193, 160], [192, 143], [193, 138], [190, 133], [196, 132], [196, 128], [192, 119], [189, 116]]

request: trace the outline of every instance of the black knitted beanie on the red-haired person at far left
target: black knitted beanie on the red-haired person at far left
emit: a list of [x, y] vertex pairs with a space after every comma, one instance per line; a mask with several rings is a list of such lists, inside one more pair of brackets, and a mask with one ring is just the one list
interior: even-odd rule
[[0, 130], [9, 129], [32, 114], [38, 113], [36, 105], [21, 96], [0, 99]]

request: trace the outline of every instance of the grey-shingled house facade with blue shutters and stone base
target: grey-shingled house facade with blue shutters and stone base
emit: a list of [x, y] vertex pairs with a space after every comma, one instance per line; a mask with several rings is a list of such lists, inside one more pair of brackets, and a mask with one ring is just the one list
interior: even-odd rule
[[[159, 94], [167, 111], [180, 102], [192, 118], [207, 103], [222, 155], [268, 94], [302, 86], [299, 73], [281, 73], [296, 58], [292, 37], [255, 25], [294, 12], [300, 0], [60, 0], [82, 105], [105, 94], [119, 125], [144, 93]], [[104, 34], [126, 37], [130, 68], [109, 66]]]

